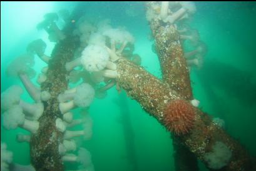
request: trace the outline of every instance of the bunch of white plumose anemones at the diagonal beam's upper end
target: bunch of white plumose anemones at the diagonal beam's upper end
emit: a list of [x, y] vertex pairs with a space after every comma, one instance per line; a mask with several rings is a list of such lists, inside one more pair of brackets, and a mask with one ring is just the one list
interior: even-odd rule
[[76, 34], [86, 36], [87, 46], [83, 47], [81, 57], [66, 63], [66, 70], [83, 66], [91, 74], [97, 72], [98, 77], [116, 78], [114, 62], [120, 59], [127, 44], [134, 43], [134, 37], [125, 29], [112, 28], [107, 20], [99, 22], [97, 26], [84, 20], [77, 27]]

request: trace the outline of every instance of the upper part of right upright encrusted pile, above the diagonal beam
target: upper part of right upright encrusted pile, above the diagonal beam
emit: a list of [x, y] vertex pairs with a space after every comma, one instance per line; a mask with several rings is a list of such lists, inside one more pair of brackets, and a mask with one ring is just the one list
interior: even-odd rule
[[184, 99], [192, 100], [190, 74], [185, 57], [183, 57], [180, 35], [173, 25], [162, 22], [158, 17], [150, 22], [150, 27], [155, 38], [163, 81]]

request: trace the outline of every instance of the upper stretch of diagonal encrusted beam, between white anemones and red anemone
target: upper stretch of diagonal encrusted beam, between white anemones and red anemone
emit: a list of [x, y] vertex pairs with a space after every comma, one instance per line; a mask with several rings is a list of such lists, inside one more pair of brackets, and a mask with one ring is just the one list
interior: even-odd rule
[[163, 110], [169, 100], [178, 99], [175, 91], [169, 89], [155, 76], [146, 72], [143, 67], [136, 66], [126, 59], [118, 61], [118, 85], [126, 90], [127, 94], [140, 102], [141, 107], [158, 120], [163, 118]]

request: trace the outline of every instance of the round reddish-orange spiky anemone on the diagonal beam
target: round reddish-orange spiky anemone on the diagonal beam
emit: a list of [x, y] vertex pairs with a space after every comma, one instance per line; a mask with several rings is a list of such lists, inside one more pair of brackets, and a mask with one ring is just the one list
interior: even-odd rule
[[175, 134], [186, 134], [193, 127], [195, 110], [185, 100], [171, 101], [164, 111], [163, 124]]

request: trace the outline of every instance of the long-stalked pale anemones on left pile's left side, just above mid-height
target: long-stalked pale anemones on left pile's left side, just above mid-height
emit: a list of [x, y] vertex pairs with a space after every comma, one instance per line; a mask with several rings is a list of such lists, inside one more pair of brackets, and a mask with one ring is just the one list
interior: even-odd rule
[[[36, 72], [32, 68], [34, 66], [34, 55], [37, 54], [46, 63], [50, 60], [50, 57], [44, 54], [45, 48], [46, 44], [41, 39], [32, 41], [27, 46], [26, 54], [16, 57], [6, 69], [6, 74], [8, 74], [8, 76], [19, 77], [28, 94], [36, 102], [41, 102], [41, 100], [46, 101], [51, 97], [49, 92], [41, 92], [40, 88], [34, 85], [31, 81], [36, 75]], [[41, 70], [42, 73], [39, 74], [37, 79], [38, 84], [42, 84], [46, 81], [47, 71], [48, 67], [43, 67]]]

